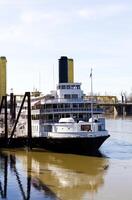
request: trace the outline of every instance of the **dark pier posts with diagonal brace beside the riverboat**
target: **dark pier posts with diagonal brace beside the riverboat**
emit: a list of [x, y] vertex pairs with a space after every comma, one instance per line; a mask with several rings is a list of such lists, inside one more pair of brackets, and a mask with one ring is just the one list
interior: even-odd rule
[[[24, 102], [27, 98], [27, 137], [13, 137], [15, 133], [15, 129], [22, 111], [22, 108], [24, 106]], [[8, 113], [7, 113], [7, 96], [3, 96], [0, 104], [0, 114], [2, 111], [2, 108], [4, 108], [4, 120], [1, 121], [1, 123], [4, 125], [4, 132], [0, 135], [0, 148], [9, 148], [9, 147], [28, 147], [29, 149], [32, 148], [32, 126], [31, 126], [31, 99], [30, 99], [30, 92], [26, 92], [19, 112], [16, 116], [16, 97], [11, 93], [10, 95], [10, 124], [12, 125], [12, 131], [9, 134], [8, 132]]]

